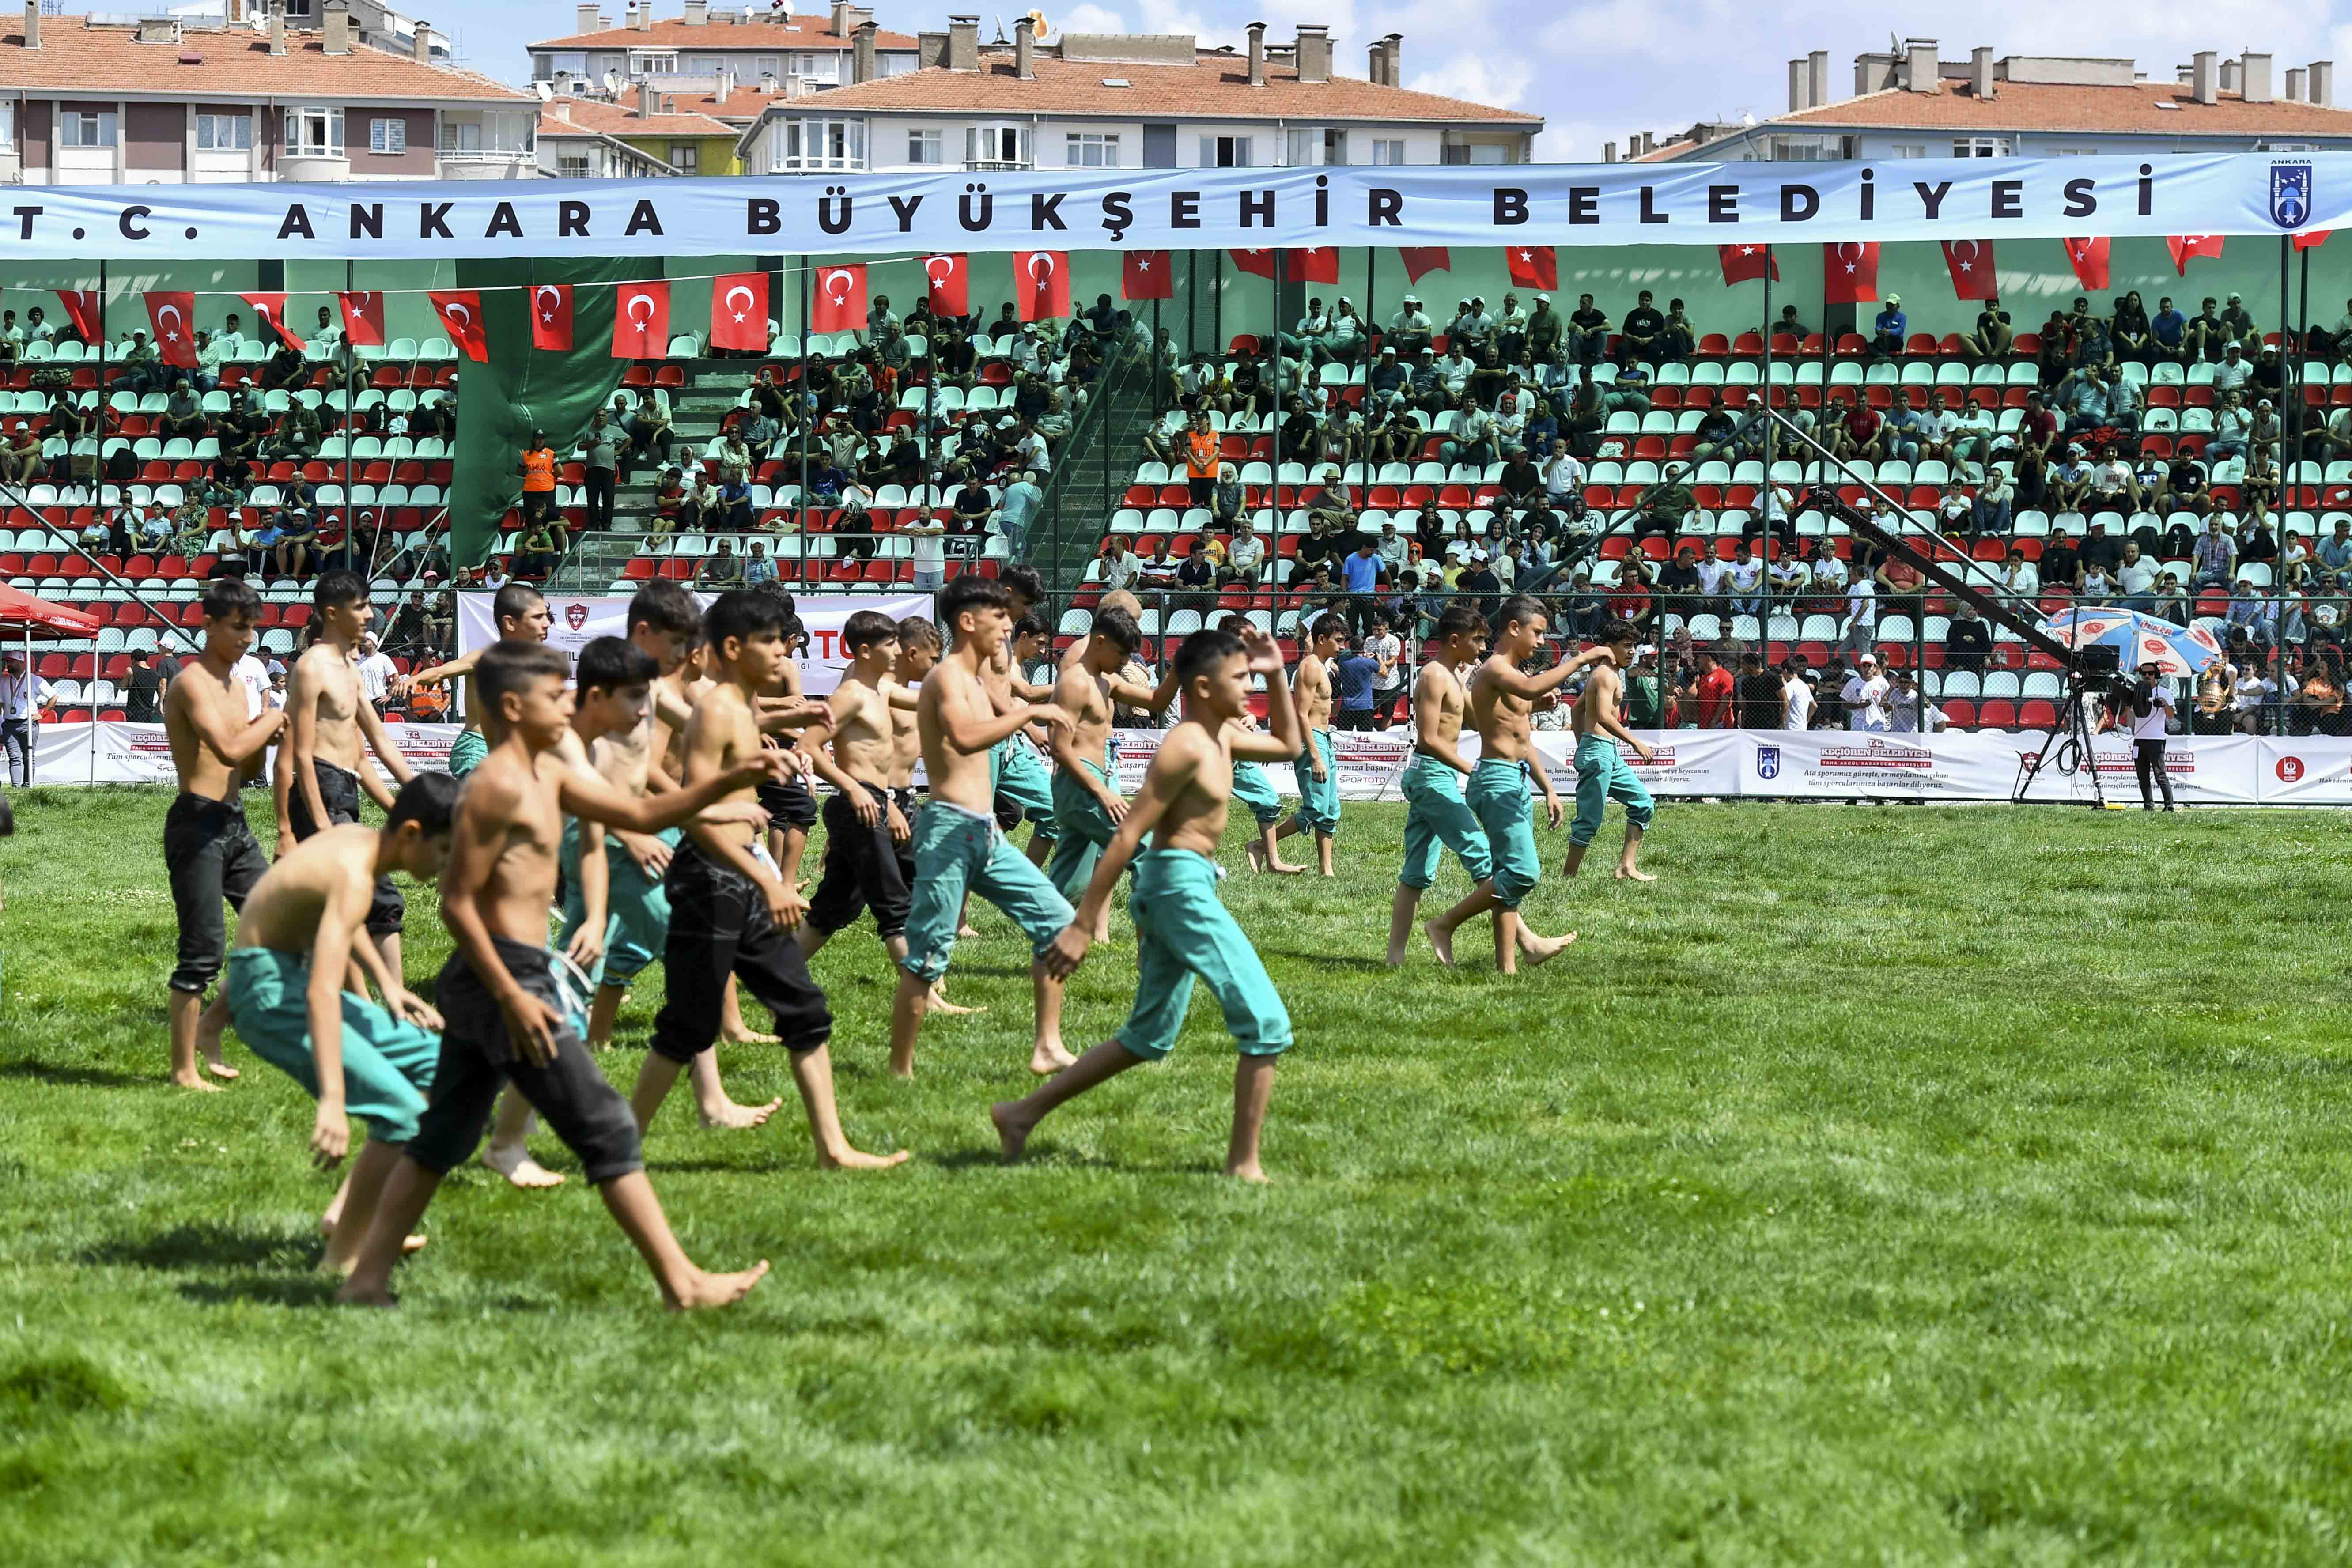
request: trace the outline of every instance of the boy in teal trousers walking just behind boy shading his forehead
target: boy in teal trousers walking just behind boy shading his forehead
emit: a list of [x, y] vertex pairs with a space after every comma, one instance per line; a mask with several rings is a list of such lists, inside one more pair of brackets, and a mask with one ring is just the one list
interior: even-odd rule
[[948, 973], [957, 912], [967, 889], [1004, 910], [1030, 938], [1030, 980], [1037, 994], [1037, 1037], [1030, 1072], [1070, 1065], [1061, 1048], [1061, 978], [1047, 971], [1044, 950], [1070, 924], [1070, 900], [1030, 865], [995, 818], [990, 750], [1028, 724], [1068, 733], [1070, 715], [1054, 705], [1014, 703], [1000, 710], [983, 672], [1004, 654], [1014, 597], [995, 578], [960, 576], [938, 595], [938, 614], [955, 632], [955, 651], [922, 682], [915, 719], [931, 799], [915, 816], [915, 900], [906, 924], [906, 959], [891, 1001], [889, 1067], [915, 1074], [915, 1037], [931, 985]]

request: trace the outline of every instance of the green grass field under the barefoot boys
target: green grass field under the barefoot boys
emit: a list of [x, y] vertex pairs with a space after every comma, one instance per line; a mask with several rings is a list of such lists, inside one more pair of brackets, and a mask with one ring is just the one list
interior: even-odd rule
[[[842, 1114], [915, 1159], [814, 1171], [783, 1058], [731, 1053], [786, 1117], [680, 1093], [647, 1159], [699, 1260], [776, 1272], [682, 1321], [576, 1178], [477, 1168], [402, 1312], [327, 1309], [299, 1088], [240, 1046], [230, 1093], [160, 1081], [162, 806], [24, 795], [0, 858], [5, 1563], [2352, 1549], [2340, 816], [1670, 804], [1653, 889], [1543, 839], [1531, 917], [1583, 943], [1505, 983], [1484, 926], [1381, 969], [1402, 809], [1350, 806], [1338, 882], [1225, 884], [1298, 1023], [1270, 1190], [1216, 1175], [1207, 999], [1000, 1168], [1025, 952], [983, 919], [953, 985], [995, 1011], [903, 1086], [861, 929], [818, 959]], [[412, 973], [445, 952], [412, 917]]]

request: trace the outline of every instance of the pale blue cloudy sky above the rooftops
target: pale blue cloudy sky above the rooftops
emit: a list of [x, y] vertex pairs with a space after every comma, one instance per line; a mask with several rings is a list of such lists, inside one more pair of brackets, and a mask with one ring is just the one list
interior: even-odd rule
[[[619, 21], [623, 0], [607, 0]], [[2284, 5], [2281, 0], [2213, 0], [2209, 5], [2124, 5], [2119, 0], [1978, 0], [1966, 16], [1929, 5], [1858, 5], [1813, 0], [1806, 7], [1755, 0], [1595, 0], [1534, 5], [1529, 0], [1397, 5], [1395, 0], [1087, 0], [1056, 9], [1037, 0], [1051, 31], [1192, 33], [1204, 45], [1242, 45], [1242, 26], [1268, 21], [1270, 38], [1289, 38], [1301, 21], [1324, 24], [1343, 75], [1364, 75], [1364, 49], [1385, 33], [1404, 35], [1404, 85], [1482, 103], [1536, 110], [1545, 132], [1543, 162], [1599, 162], [1602, 143], [1625, 143], [1630, 132], [1682, 132], [1696, 120], [1766, 120], [1788, 108], [1788, 61], [1830, 52], [1835, 96], [1853, 89], [1853, 56], [1886, 49], [1889, 31], [1936, 38], [1947, 59], [1990, 45], [2002, 54], [2131, 56], [2154, 80], [2197, 49], [2223, 56], [2244, 49], [2274, 56], [2272, 82], [2312, 59], [2343, 61], [2352, 82], [2352, 0]], [[412, 14], [459, 33], [466, 63], [506, 82], [527, 82], [522, 45], [572, 31], [569, 0], [475, 0], [459, 14], [412, 0]], [[675, 16], [680, 0], [661, 0]], [[814, 2], [797, 9], [818, 9]], [[962, 9], [962, 7], [955, 7]], [[981, 9], [983, 35], [1021, 12]], [[875, 0], [875, 21], [901, 33], [946, 28], [948, 7], [898, 9]], [[1705, 40], [1705, 49], [1693, 42]], [[1700, 59], [1703, 54], [1703, 59]], [[2338, 85], [2352, 106], [2352, 89]]]

